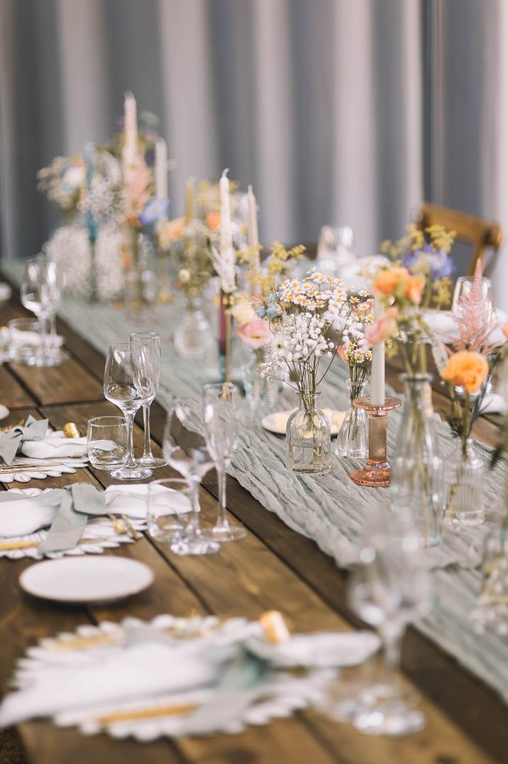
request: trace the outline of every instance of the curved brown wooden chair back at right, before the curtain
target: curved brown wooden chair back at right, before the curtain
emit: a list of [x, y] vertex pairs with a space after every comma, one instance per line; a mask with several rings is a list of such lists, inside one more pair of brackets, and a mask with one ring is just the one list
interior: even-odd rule
[[473, 254], [468, 263], [466, 276], [472, 276], [477, 261], [482, 261], [482, 270], [485, 267], [485, 255], [488, 247], [494, 253], [503, 244], [503, 228], [499, 223], [485, 218], [477, 218], [468, 215], [467, 212], [458, 212], [457, 209], [440, 207], [437, 204], [423, 202], [416, 213], [416, 224], [419, 228], [428, 228], [429, 225], [443, 225], [447, 231], [456, 231], [457, 240], [471, 244]]

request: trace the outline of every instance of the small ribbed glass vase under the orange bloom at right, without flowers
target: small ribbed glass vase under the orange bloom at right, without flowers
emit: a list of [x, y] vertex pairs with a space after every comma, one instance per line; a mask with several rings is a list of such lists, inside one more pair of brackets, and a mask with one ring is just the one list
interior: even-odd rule
[[485, 519], [484, 465], [473, 441], [459, 440], [445, 461], [445, 523], [480, 525]]

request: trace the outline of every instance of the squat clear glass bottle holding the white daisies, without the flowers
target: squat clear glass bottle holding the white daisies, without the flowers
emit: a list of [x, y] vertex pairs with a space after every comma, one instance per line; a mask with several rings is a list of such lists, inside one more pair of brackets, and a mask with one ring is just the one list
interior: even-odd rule
[[286, 425], [286, 467], [299, 474], [330, 471], [330, 422], [316, 407], [319, 393], [298, 393], [299, 407]]

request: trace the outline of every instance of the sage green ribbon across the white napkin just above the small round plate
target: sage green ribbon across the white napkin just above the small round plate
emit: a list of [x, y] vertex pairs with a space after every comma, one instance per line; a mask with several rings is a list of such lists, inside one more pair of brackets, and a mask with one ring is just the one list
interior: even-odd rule
[[105, 514], [105, 498], [102, 489], [88, 483], [76, 483], [63, 495], [62, 503], [53, 518], [46, 538], [38, 551], [63, 552], [73, 549], [79, 542], [89, 515]]

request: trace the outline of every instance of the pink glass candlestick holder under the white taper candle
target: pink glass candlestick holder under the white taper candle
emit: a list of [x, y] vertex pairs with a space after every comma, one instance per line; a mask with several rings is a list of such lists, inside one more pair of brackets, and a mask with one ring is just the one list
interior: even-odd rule
[[383, 406], [374, 406], [370, 397], [353, 401], [357, 409], [364, 409], [369, 419], [369, 458], [367, 464], [351, 472], [349, 477], [358, 485], [380, 488], [390, 485], [391, 468], [387, 459], [388, 412], [402, 406], [399, 398], [387, 397]]

